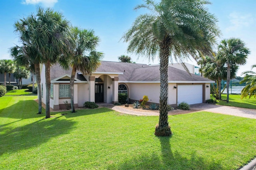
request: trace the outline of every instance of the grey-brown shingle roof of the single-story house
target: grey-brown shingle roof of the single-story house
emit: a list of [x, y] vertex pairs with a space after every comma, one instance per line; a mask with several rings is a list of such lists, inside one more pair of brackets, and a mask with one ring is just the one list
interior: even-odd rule
[[[159, 65], [149, 66], [147, 64], [137, 64], [137, 63], [122, 63], [122, 62], [112, 62], [112, 61], [101, 61], [101, 65], [96, 70], [96, 72], [106, 72], [106, 73], [119, 73], [120, 82], [160, 82], [160, 70]], [[62, 76], [64, 74], [71, 75], [72, 69], [63, 70], [60, 65], [53, 65], [51, 67], [51, 80]], [[77, 72], [80, 72], [77, 70]], [[84, 81], [86, 80], [82, 74], [77, 74], [75, 78]], [[168, 67], [168, 81], [193, 81], [193, 82], [212, 82], [208, 78], [197, 76], [195, 74], [189, 74], [186, 71], [174, 68], [172, 66]]]

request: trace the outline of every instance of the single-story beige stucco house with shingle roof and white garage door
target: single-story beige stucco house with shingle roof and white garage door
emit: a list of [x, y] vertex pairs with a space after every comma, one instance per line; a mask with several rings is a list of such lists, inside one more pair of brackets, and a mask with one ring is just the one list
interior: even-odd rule
[[[70, 103], [70, 75], [72, 69], [63, 70], [59, 65], [50, 69], [50, 107], [54, 110], [65, 108]], [[40, 66], [42, 102], [46, 103], [45, 66]], [[203, 103], [210, 99], [210, 83], [207, 78], [189, 74], [169, 66], [168, 104], [177, 106], [179, 102]], [[159, 65], [101, 61], [92, 75], [76, 71], [74, 82], [74, 105], [82, 107], [84, 102], [118, 102], [118, 93], [127, 93], [128, 100], [140, 100], [148, 96], [148, 102], [159, 103]]]

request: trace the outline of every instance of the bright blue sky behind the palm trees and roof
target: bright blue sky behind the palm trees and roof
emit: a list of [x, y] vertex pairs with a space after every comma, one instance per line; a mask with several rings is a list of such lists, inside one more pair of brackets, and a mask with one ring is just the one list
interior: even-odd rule
[[[216, 15], [222, 31], [221, 39], [238, 37], [242, 39], [251, 54], [247, 64], [240, 66], [241, 72], [250, 70], [256, 64], [256, 0], [211, 0], [209, 11]], [[135, 12], [133, 8], [143, 0], [0, 0], [0, 59], [11, 59], [8, 49], [19, 44], [14, 31], [15, 21], [36, 13], [36, 7], [51, 7], [70, 20], [72, 25], [94, 29], [101, 39], [98, 51], [105, 55], [104, 61], [118, 61], [118, 56], [129, 55], [136, 63], [158, 64], [138, 58], [126, 52], [127, 44], [120, 41], [124, 32], [131, 27], [136, 16], [146, 11]], [[186, 61], [196, 64], [194, 60]]]

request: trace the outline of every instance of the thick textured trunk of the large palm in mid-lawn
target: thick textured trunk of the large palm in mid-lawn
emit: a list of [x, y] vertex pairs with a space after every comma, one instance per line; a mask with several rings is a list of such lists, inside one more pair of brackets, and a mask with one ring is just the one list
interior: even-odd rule
[[156, 126], [156, 136], [170, 136], [172, 135], [168, 123], [168, 63], [169, 63], [169, 47], [167, 43], [160, 45], [160, 99], [159, 99], [159, 122]]

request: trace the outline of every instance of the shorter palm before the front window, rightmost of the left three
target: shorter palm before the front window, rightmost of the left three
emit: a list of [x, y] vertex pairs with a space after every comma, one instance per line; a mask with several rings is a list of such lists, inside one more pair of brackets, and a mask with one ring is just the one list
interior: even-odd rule
[[94, 35], [94, 30], [72, 28], [72, 35], [75, 40], [75, 47], [72, 56], [70, 57], [70, 65], [72, 66], [72, 73], [70, 77], [70, 99], [72, 113], [76, 112], [74, 107], [74, 80], [76, 70], [80, 70], [84, 75], [92, 74], [98, 66], [103, 57], [103, 53], [96, 51], [99, 45], [100, 38]]

